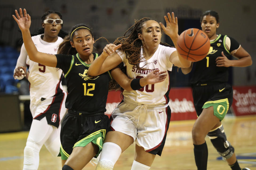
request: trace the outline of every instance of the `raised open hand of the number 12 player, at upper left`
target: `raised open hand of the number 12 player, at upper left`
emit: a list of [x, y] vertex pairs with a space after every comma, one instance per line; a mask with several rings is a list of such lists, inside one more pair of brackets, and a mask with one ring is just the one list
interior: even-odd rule
[[16, 14], [17, 18], [13, 15], [13, 18], [19, 25], [19, 29], [21, 29], [21, 31], [25, 31], [25, 30], [29, 29], [30, 24], [31, 24], [30, 15], [27, 14], [26, 9], [24, 9], [23, 11], [24, 11], [24, 16], [23, 16], [21, 8], [19, 8], [19, 14], [18, 14], [18, 11], [15, 10], [15, 14]]

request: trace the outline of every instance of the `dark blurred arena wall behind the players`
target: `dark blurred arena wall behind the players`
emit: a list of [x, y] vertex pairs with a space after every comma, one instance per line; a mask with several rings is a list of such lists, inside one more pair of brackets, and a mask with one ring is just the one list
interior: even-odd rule
[[[32, 17], [31, 32], [41, 28], [41, 15], [47, 10], [56, 10], [63, 15], [63, 30], [78, 23], [85, 23], [93, 28], [95, 38], [106, 37], [113, 42], [134, 23], [134, 19], [151, 17], [164, 22], [163, 16], [167, 12], [175, 12], [178, 17], [179, 32], [188, 28], [200, 28], [199, 17], [203, 11], [215, 10], [220, 16], [220, 27], [217, 33], [234, 37], [253, 58], [253, 65], [246, 68], [233, 68], [233, 85], [255, 85], [255, 47], [256, 47], [256, 5], [253, 0], [231, 1], [190, 1], [190, 0], [94, 0], [94, 1], [1, 1], [0, 5], [0, 41], [8, 45], [15, 45], [21, 34], [12, 18], [14, 9], [26, 8]], [[169, 37], [162, 36], [163, 42], [169, 42]], [[102, 48], [105, 40], [100, 40], [95, 46]], [[180, 81], [186, 81], [181, 71], [175, 73], [174, 86], [180, 86]], [[178, 80], [178, 81], [177, 81]]]

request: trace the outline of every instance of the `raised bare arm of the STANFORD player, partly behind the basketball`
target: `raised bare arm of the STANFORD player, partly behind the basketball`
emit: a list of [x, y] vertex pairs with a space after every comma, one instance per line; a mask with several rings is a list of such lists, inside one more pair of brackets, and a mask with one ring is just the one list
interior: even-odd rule
[[[168, 12], [167, 16], [165, 16], [166, 27], [165, 27], [165, 25], [163, 25], [163, 23], [159, 23], [159, 24], [165, 31], [166, 35], [168, 35], [171, 38], [175, 47], [177, 47], [177, 40], [179, 37], [179, 35], [178, 35], [178, 19], [177, 19], [177, 17], [174, 17], [173, 12], [171, 14]], [[178, 53], [178, 51], [175, 51], [170, 55], [170, 62], [173, 63], [177, 67], [189, 67], [191, 65], [191, 62], [182, 58], [180, 56], [180, 54]]]

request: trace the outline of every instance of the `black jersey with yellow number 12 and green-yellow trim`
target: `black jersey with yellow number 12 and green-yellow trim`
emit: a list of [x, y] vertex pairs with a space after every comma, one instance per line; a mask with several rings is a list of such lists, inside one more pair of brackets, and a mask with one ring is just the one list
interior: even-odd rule
[[[94, 60], [98, 57], [93, 53]], [[88, 114], [106, 112], [106, 101], [109, 81], [109, 71], [99, 76], [88, 75], [90, 65], [76, 55], [56, 54], [57, 66], [62, 69], [67, 80], [66, 108], [83, 111]]]

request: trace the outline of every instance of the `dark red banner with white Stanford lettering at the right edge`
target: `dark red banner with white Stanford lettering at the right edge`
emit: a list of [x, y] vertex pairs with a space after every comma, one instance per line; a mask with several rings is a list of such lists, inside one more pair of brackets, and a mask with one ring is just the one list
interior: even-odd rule
[[234, 86], [231, 107], [236, 116], [256, 114], [256, 86]]

